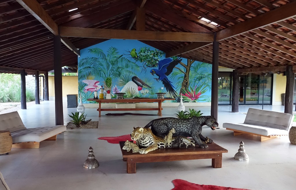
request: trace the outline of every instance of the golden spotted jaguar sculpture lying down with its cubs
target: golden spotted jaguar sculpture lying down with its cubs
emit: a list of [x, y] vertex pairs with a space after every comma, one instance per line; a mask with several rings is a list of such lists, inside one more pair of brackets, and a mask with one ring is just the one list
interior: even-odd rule
[[[175, 129], [171, 129], [165, 138], [157, 137], [149, 128], [136, 127], [131, 133], [131, 139], [136, 141], [136, 145], [144, 147], [139, 150], [140, 154], [147, 154], [158, 148], [179, 148], [194, 147], [195, 142], [187, 137], [172, 137]], [[208, 139], [209, 140], [209, 139]], [[207, 143], [205, 141], [204, 143]], [[127, 142], [126, 142], [127, 143]], [[132, 143], [132, 142], [130, 142]], [[127, 147], [126, 147], [127, 148]], [[123, 149], [126, 150], [126, 149]]]

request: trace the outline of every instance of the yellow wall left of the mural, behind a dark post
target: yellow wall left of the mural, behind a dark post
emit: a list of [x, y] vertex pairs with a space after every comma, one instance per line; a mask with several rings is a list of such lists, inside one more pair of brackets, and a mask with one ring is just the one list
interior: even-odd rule
[[[48, 77], [49, 97], [54, 96], [54, 76]], [[62, 76], [63, 97], [78, 94], [78, 76]]]

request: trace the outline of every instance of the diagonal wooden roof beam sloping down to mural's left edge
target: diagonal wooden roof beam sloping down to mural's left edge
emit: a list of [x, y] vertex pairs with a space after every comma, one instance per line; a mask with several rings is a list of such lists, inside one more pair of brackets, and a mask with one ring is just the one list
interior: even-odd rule
[[[47, 12], [41, 7], [36, 0], [16, 0], [22, 7], [24, 7], [30, 14], [32, 14], [39, 22], [41, 22], [49, 31], [54, 35], [59, 35], [59, 28], [57, 23], [47, 14]], [[80, 51], [74, 46], [70, 40], [62, 40], [70, 50], [80, 56]]]

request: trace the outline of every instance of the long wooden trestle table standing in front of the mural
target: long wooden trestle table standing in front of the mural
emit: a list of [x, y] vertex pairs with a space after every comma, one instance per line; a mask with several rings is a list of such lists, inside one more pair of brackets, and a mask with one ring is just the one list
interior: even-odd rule
[[[147, 110], [158, 110], [158, 115], [162, 116], [161, 110], [161, 103], [165, 100], [175, 100], [174, 98], [124, 98], [124, 99], [98, 99], [94, 100], [93, 98], [87, 99], [87, 101], [96, 101], [99, 103], [99, 117], [101, 117], [101, 111], [147, 111]], [[101, 103], [141, 103], [141, 102], [157, 102], [158, 108], [101, 108]]]

